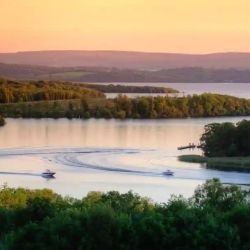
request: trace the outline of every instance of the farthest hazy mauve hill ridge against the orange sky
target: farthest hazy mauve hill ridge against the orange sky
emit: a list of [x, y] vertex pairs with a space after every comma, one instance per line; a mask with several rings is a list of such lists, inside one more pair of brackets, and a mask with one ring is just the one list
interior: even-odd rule
[[0, 53], [0, 62], [56, 67], [116, 67], [140, 70], [185, 67], [250, 69], [250, 53], [191, 55], [126, 51], [30, 51]]

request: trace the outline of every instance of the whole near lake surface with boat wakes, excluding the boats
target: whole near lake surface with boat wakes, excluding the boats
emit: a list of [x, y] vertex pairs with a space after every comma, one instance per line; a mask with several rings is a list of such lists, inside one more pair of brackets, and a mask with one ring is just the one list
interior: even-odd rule
[[[133, 190], [155, 201], [191, 196], [207, 179], [250, 183], [250, 174], [207, 170], [178, 162], [180, 145], [198, 143], [203, 126], [241, 118], [169, 120], [7, 119], [0, 128], [0, 183], [51, 188], [82, 197], [89, 191]], [[49, 168], [56, 178], [40, 173]], [[171, 169], [174, 177], [162, 172]]]

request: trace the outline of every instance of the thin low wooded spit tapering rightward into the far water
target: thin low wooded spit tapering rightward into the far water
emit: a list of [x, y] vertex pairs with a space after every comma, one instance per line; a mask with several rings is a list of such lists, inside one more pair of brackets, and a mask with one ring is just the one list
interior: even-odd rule
[[178, 90], [166, 87], [85, 83], [82, 83], [81, 85], [86, 88], [95, 89], [104, 93], [179, 93]]

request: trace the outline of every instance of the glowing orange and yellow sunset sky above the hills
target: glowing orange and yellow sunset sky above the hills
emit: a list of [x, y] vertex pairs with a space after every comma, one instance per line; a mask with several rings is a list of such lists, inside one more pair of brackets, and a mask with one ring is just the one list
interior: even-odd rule
[[249, 0], [0, 1], [0, 52], [250, 51]]

